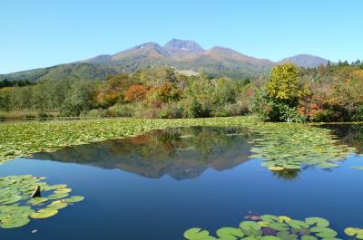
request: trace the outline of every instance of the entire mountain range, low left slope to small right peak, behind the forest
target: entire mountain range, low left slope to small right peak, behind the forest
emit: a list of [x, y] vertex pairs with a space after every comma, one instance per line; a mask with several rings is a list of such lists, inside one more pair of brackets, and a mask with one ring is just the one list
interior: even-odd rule
[[201, 68], [213, 76], [252, 78], [266, 73], [282, 62], [300, 67], [317, 67], [328, 60], [309, 54], [285, 58], [280, 62], [254, 58], [231, 48], [215, 46], [205, 50], [198, 43], [172, 39], [165, 45], [143, 43], [115, 54], [103, 54], [80, 62], [0, 75], [0, 80], [29, 80], [83, 78], [104, 80], [109, 74], [135, 72], [142, 68], [172, 66], [180, 71], [198, 72]]

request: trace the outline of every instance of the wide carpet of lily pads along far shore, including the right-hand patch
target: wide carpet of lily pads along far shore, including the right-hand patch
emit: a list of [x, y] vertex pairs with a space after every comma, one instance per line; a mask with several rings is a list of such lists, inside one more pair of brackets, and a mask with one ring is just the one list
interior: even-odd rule
[[34, 152], [137, 136], [149, 130], [191, 126], [246, 128], [253, 135], [249, 138], [255, 153], [251, 158], [262, 158], [262, 166], [272, 171], [299, 169], [305, 165], [336, 168], [342, 159], [356, 150], [340, 144], [331, 130], [307, 124], [260, 122], [253, 117], [56, 120], [0, 124], [0, 162]]

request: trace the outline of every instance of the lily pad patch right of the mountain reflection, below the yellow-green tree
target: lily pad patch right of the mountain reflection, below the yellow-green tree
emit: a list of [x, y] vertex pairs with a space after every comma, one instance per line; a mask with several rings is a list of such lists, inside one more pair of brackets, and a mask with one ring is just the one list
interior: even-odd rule
[[304, 166], [336, 168], [356, 149], [338, 144], [329, 130], [302, 124], [265, 124], [258, 130], [251, 158], [262, 158], [261, 166], [273, 171]]

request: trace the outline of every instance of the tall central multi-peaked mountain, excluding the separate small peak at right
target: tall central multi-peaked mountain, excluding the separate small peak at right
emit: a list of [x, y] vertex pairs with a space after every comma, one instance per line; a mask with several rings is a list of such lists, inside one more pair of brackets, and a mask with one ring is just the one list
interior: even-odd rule
[[182, 71], [204, 72], [215, 76], [250, 78], [267, 72], [274, 62], [243, 55], [215, 46], [204, 50], [198, 43], [172, 39], [164, 46], [144, 43], [113, 55], [100, 55], [83, 62], [113, 66], [118, 72], [168, 65]]

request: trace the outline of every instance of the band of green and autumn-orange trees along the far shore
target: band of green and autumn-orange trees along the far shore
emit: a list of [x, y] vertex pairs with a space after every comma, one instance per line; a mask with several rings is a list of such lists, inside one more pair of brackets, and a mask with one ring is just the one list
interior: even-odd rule
[[204, 118], [258, 115], [265, 121], [363, 120], [363, 62], [317, 68], [292, 63], [251, 79], [186, 75], [165, 67], [90, 81], [74, 75], [0, 81], [0, 118]]

